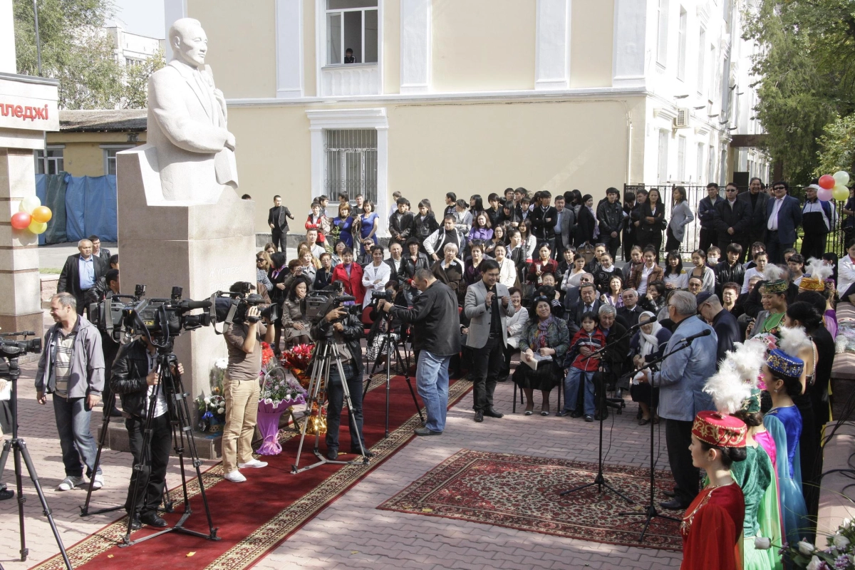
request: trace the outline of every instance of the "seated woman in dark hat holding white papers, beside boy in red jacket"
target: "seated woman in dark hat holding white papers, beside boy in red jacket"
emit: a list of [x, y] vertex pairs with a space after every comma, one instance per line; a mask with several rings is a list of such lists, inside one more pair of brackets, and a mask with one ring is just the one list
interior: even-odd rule
[[[528, 313], [528, 324], [522, 333], [520, 366], [516, 367], [513, 380], [526, 395], [526, 414], [534, 410], [534, 391], [543, 394], [541, 415], [549, 415], [549, 393], [563, 377], [559, 362], [570, 344], [567, 323], [552, 315], [551, 300], [535, 297]], [[535, 352], [537, 356], [535, 357]], [[537, 363], [537, 368], [532, 365]]]

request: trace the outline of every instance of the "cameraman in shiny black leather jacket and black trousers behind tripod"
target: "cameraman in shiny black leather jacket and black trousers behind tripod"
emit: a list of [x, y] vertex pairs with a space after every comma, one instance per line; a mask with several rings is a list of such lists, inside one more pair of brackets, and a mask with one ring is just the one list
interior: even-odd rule
[[[183, 374], [181, 364], [172, 365], [173, 374]], [[110, 378], [110, 388], [119, 395], [121, 408], [125, 412], [127, 441], [131, 446], [133, 464], [143, 461], [145, 424], [149, 414], [151, 398], [156, 393], [156, 403], [151, 420], [149, 461], [141, 470], [134, 469], [127, 487], [125, 510], [131, 517], [131, 528], [142, 523], [150, 526], [166, 526], [166, 520], [157, 515], [166, 469], [169, 464], [169, 447], [172, 443], [172, 426], [169, 400], [174, 395], [173, 386], [160, 384], [160, 369], [157, 365], [157, 347], [143, 335], [121, 348], [116, 356]], [[136, 504], [132, 504], [133, 491], [137, 491]]]

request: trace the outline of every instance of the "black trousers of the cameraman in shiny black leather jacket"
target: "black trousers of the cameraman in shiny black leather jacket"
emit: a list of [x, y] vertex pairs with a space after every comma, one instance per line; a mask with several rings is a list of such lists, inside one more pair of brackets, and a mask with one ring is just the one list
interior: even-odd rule
[[[131, 445], [134, 465], [142, 462], [143, 456], [143, 431], [145, 420], [137, 416], [125, 420], [127, 429], [127, 440]], [[125, 510], [128, 514], [132, 510], [132, 497], [134, 486], [137, 485], [137, 504], [133, 511], [139, 514], [154, 513], [160, 504], [163, 495], [163, 485], [166, 482], [166, 468], [169, 464], [169, 448], [172, 446], [172, 426], [169, 423], [169, 414], [162, 414], [151, 420], [150, 455], [139, 471], [134, 469], [131, 473], [131, 483], [127, 487], [127, 499]]]

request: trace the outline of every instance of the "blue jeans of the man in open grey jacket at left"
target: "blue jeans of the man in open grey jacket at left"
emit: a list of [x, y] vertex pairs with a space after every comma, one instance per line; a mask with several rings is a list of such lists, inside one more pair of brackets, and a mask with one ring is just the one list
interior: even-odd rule
[[[65, 465], [65, 474], [67, 477], [83, 475], [83, 466], [80, 465], [82, 456], [86, 465], [86, 476], [91, 477], [98, 446], [95, 443], [95, 438], [89, 432], [89, 419], [92, 412], [91, 409], [85, 408], [86, 398], [67, 400], [54, 394], [53, 401], [56, 431], [59, 432], [59, 444], [62, 448], [62, 464]], [[101, 473], [100, 466], [98, 466], [98, 473]]]

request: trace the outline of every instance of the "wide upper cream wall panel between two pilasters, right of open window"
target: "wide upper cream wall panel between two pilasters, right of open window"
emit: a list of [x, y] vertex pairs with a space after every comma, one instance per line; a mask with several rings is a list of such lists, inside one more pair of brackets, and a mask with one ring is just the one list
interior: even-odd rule
[[433, 91], [534, 89], [534, 0], [433, 0]]

